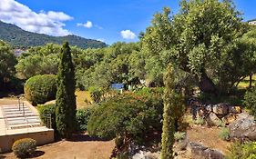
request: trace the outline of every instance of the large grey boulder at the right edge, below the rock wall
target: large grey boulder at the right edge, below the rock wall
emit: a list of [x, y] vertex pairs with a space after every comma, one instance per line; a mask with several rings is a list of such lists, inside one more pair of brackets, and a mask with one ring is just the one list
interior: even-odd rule
[[230, 124], [229, 129], [231, 139], [256, 140], [256, 123], [251, 115], [242, 114]]

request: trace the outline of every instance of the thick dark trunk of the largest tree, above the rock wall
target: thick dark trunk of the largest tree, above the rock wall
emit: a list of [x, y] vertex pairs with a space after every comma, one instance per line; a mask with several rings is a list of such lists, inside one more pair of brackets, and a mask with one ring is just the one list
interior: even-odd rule
[[213, 84], [211, 79], [206, 75], [206, 73], [203, 71], [200, 77], [200, 90], [204, 93], [208, 94], [218, 94], [218, 90], [216, 88], [216, 85]]

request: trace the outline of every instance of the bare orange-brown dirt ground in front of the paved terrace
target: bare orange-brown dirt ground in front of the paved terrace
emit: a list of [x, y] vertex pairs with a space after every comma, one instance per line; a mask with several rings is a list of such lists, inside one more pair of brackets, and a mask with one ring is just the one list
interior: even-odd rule
[[[115, 147], [115, 142], [99, 141], [87, 134], [79, 134], [72, 141], [60, 141], [38, 146], [35, 157], [38, 159], [108, 159]], [[13, 153], [0, 154], [0, 159], [15, 159]]]

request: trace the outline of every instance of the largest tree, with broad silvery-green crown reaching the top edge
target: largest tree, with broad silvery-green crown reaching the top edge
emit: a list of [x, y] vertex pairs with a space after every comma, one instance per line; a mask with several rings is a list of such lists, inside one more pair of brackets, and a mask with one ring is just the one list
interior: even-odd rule
[[[230, 48], [246, 30], [240, 13], [230, 1], [218, 0], [182, 0], [179, 13], [169, 13], [169, 8], [164, 8], [162, 14], [156, 14], [142, 38], [142, 50], [153, 61], [148, 64], [164, 70], [169, 62], [175, 63], [197, 77], [201, 91], [219, 93], [224, 76], [220, 71], [224, 65], [230, 66], [226, 64], [233, 54]], [[229, 71], [225, 74], [230, 75]]]

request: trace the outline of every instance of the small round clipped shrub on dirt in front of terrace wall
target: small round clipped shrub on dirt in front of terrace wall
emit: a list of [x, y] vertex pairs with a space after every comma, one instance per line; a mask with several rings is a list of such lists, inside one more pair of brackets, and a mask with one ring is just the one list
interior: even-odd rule
[[36, 151], [36, 140], [31, 138], [24, 138], [15, 141], [12, 150], [17, 157], [26, 157]]

